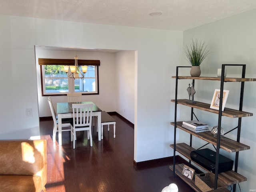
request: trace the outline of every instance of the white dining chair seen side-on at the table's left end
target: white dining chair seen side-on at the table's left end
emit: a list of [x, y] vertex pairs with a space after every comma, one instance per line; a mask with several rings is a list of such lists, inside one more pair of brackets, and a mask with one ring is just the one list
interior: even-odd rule
[[[56, 115], [56, 112], [55, 112], [54, 107], [52, 105], [52, 99], [50, 97], [48, 97], [48, 103], [49, 103], [49, 106], [50, 106], [50, 110], [51, 110], [51, 113], [52, 113], [52, 119], [53, 119], [52, 140], [55, 143], [56, 142], [56, 133], [59, 131], [58, 130], [58, 116]], [[68, 127], [66, 129], [63, 129], [62, 131], [71, 131], [72, 121], [73, 121], [73, 118], [62, 119], [62, 128]]]

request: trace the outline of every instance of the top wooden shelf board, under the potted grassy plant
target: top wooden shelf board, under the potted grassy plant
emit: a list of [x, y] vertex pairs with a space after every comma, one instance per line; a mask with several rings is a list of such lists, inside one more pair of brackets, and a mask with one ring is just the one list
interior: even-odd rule
[[[172, 76], [176, 78], [176, 76]], [[191, 77], [191, 76], [178, 76], [178, 79], [198, 79], [198, 80], [212, 80], [220, 81], [220, 77]], [[225, 77], [224, 82], [246, 82], [246, 81], [256, 81], [256, 78], [236, 78], [236, 77]]]

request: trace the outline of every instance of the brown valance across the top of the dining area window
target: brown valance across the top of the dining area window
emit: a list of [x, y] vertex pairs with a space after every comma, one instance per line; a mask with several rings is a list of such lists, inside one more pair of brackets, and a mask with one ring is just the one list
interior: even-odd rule
[[[78, 65], [100, 66], [100, 60], [82, 60], [78, 59]], [[38, 58], [39, 65], [75, 65], [74, 59], [46, 59]]]

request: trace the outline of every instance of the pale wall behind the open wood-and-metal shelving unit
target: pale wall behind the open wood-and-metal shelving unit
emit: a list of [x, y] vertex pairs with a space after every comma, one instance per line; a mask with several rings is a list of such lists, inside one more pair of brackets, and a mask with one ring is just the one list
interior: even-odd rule
[[[210, 24], [187, 30], [184, 32], [184, 42], [190, 42], [191, 38], [205, 40], [211, 48], [211, 54], [202, 63], [201, 76], [216, 76], [217, 68], [221, 64], [246, 64], [246, 77], [256, 78], [256, 10], [250, 10], [242, 14], [231, 16]], [[185, 56], [183, 56], [185, 58]], [[183, 60], [182, 65], [189, 65]], [[184, 72], [184, 75], [189, 75]], [[241, 68], [237, 70], [234, 67], [227, 68], [227, 77], [241, 76]], [[183, 94], [186, 94], [188, 82], [182, 82]], [[245, 82], [243, 110], [256, 114], [256, 82]], [[220, 88], [219, 82], [196, 81], [195, 100], [203, 100], [210, 103], [215, 88]], [[226, 107], [239, 108], [240, 83], [224, 83], [224, 89], [230, 90]], [[218, 116], [196, 110], [198, 118], [209, 125], [218, 124]], [[184, 116], [180, 118], [182, 120]], [[190, 117], [188, 117], [190, 118]], [[227, 132], [237, 125], [237, 118], [222, 118], [222, 127]], [[183, 119], [184, 120], [184, 119]], [[241, 151], [239, 154], [238, 173], [245, 176], [248, 180], [240, 183], [241, 191], [255, 190], [255, 172], [256, 172], [256, 132], [255, 116], [242, 118], [241, 139], [240, 142], [250, 146], [250, 150]], [[227, 137], [236, 139], [236, 131], [228, 134]], [[180, 132], [180, 142], [188, 140], [188, 134]], [[194, 139], [194, 145], [199, 147], [202, 140]], [[195, 147], [195, 148], [196, 148]], [[235, 153], [228, 153], [220, 150], [220, 153], [235, 159]], [[237, 186], [237, 190], [238, 190]]]

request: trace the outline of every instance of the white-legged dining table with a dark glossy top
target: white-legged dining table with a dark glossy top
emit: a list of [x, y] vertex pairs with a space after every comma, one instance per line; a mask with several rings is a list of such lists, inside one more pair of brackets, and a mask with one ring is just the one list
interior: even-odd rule
[[101, 140], [101, 109], [96, 106], [93, 102], [62, 102], [57, 103], [57, 115], [58, 115], [58, 132], [59, 132], [59, 145], [62, 145], [62, 119], [73, 118], [72, 104], [93, 104], [92, 116], [97, 117], [97, 130], [98, 130], [98, 140]]

